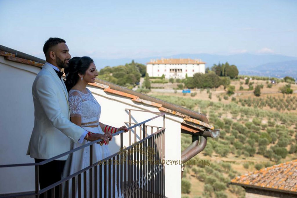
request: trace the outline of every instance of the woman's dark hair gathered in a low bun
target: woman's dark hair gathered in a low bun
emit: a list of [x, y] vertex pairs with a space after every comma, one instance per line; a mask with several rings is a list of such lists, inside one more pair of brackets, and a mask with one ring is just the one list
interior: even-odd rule
[[70, 59], [68, 68], [64, 69], [66, 75], [64, 82], [68, 92], [78, 82], [78, 73], [85, 75], [91, 63], [94, 61], [89, 56], [76, 56]]

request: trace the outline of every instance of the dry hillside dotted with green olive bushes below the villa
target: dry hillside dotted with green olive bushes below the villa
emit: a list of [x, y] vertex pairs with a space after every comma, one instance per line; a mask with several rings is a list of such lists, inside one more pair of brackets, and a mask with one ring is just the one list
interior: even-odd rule
[[[235, 87], [235, 94], [240, 85], [239, 82], [231, 81], [231, 85]], [[253, 82], [266, 83], [265, 81]], [[294, 89], [295, 87], [294, 85]], [[264, 89], [271, 90], [266, 87]], [[211, 91], [215, 93], [214, 90], [209, 89], [208, 94]], [[227, 91], [218, 91], [216, 95], [224, 96]], [[244, 93], [252, 93], [252, 90]], [[217, 97], [207, 99], [207, 93], [204, 91], [203, 96], [206, 98], [203, 100], [196, 99], [201, 97], [199, 92], [191, 96], [164, 93], [162, 95], [154, 93], [151, 96], [191, 110], [200, 110], [207, 115], [209, 122], [215, 128], [221, 129], [220, 137], [208, 138], [206, 148], [194, 157], [199, 160], [211, 160], [211, 164], [185, 167], [182, 197], [243, 198], [244, 189], [229, 185], [230, 180], [247, 172], [297, 158], [297, 114], [294, 110], [297, 97], [294, 94], [292, 96], [266, 94], [260, 98], [234, 95], [232, 99], [228, 98], [224, 101], [217, 101]], [[277, 104], [282, 104], [284, 108], [278, 111]], [[285, 108], [286, 106], [289, 110]], [[181, 150], [184, 150], [191, 141], [189, 135], [181, 134]]]

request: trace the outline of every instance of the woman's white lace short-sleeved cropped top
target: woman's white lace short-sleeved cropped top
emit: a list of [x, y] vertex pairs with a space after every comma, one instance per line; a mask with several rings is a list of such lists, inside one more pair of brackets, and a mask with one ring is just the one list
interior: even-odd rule
[[87, 94], [74, 89], [68, 93], [70, 117], [81, 117], [81, 123], [99, 121], [101, 114], [100, 104], [91, 94], [91, 91], [88, 88], [87, 90]]

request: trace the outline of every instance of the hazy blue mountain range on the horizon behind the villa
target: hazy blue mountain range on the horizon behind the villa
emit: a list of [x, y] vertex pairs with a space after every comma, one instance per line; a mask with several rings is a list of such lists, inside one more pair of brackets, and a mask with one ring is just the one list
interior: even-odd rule
[[[134, 61], [146, 64], [151, 59], [160, 58], [191, 58], [201, 59], [206, 62], [206, 67], [213, 64], [225, 63], [237, 66], [240, 75], [257, 75], [268, 77], [291, 76], [297, 78], [297, 57], [283, 55], [255, 55], [255, 54], [235, 54], [235, 55], [212, 55], [212, 54], [177, 54], [173, 56], [159, 56], [147, 58], [135, 58]], [[132, 58], [121, 59], [94, 59], [97, 68], [105, 66], [117, 66], [130, 63]]]

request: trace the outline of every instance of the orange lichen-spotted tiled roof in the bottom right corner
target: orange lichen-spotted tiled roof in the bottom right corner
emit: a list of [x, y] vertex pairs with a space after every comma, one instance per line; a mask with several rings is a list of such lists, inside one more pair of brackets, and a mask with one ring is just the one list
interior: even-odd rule
[[231, 184], [297, 192], [297, 159], [251, 172], [231, 180]]

